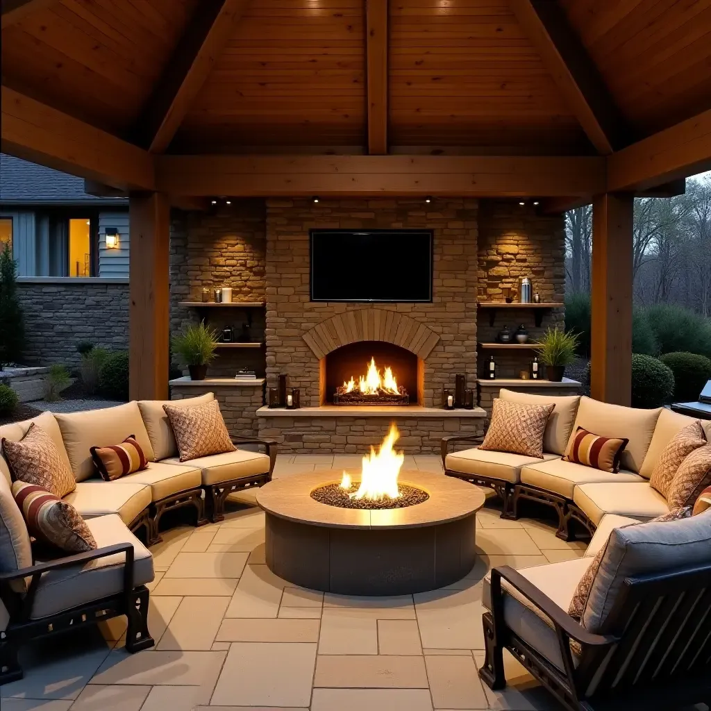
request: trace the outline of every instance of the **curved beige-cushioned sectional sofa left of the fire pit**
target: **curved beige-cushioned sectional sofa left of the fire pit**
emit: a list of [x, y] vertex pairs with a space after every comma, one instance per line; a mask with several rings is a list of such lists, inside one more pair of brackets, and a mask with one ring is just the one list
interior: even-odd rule
[[[213, 394], [171, 405], [213, 400]], [[238, 489], [260, 486], [272, 477], [274, 442], [259, 444], [265, 454], [238, 447], [225, 454], [181, 463], [164, 402], [128, 402], [73, 414], [45, 412], [0, 427], [0, 439], [19, 441], [32, 422], [50, 434], [77, 486], [65, 500], [85, 519], [97, 550], [38, 560], [23, 515], [11, 491], [11, 475], [0, 453], [0, 684], [21, 678], [17, 651], [39, 636], [126, 615], [126, 648], [153, 644], [147, 627], [149, 591], [154, 579], [151, 552], [134, 535], [143, 530], [148, 545], [161, 540], [161, 517], [192, 508], [196, 524], [222, 520], [225, 498]], [[133, 435], [149, 464], [146, 469], [103, 481], [90, 447], [119, 444]]]

